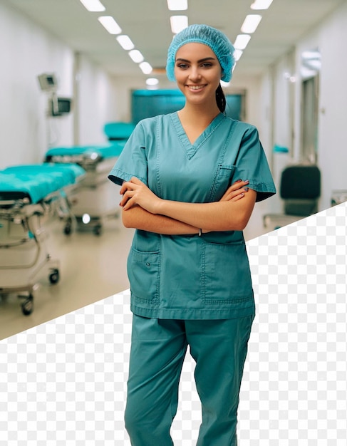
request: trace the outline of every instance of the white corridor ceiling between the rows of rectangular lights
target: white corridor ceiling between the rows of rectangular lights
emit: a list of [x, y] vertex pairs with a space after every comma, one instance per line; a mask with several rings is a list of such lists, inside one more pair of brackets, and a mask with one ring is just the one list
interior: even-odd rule
[[[0, 0], [36, 21], [75, 51], [86, 54], [114, 75], [144, 76], [103, 26], [110, 15], [153, 68], [164, 68], [172, 39], [166, 0], [101, 0], [104, 13], [88, 12], [79, 0]], [[258, 74], [346, 0], [274, 0], [267, 11], [252, 11], [253, 0], [188, 0], [189, 24], [209, 24], [234, 41], [247, 14], [262, 14], [234, 77]]]

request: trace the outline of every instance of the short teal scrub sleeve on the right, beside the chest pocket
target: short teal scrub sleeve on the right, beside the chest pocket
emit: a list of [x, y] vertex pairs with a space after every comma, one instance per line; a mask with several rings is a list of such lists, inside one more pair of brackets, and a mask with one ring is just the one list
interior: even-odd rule
[[257, 191], [257, 202], [276, 194], [257, 128], [251, 126], [244, 133], [235, 165], [234, 178], [249, 180], [249, 188]]

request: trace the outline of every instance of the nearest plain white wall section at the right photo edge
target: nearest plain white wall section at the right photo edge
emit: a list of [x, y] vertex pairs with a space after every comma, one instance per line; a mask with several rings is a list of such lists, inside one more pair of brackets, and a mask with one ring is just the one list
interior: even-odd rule
[[321, 209], [330, 206], [331, 191], [347, 190], [347, 3], [319, 30], [321, 51], [318, 165], [322, 172]]

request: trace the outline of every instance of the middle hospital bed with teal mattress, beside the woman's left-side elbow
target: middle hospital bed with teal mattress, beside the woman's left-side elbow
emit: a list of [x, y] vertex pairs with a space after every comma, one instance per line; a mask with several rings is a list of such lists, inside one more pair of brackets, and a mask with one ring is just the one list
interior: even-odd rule
[[[113, 141], [109, 145], [76, 145], [53, 147], [46, 152], [46, 162], [57, 165], [77, 163], [86, 170], [86, 177], [79, 188], [73, 204], [78, 229], [92, 229], [100, 235], [104, 219], [118, 217], [117, 192], [108, 180], [108, 173], [123, 150], [125, 140]], [[65, 228], [70, 233], [69, 227]]]

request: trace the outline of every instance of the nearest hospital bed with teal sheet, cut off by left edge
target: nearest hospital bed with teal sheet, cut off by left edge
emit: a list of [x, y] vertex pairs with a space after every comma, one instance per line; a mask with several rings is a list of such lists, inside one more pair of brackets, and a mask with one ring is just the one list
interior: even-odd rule
[[[85, 175], [78, 165], [21, 165], [0, 171], [0, 296], [18, 294], [24, 315], [33, 311], [33, 289], [43, 269], [59, 281], [58, 261], [46, 247], [43, 219], [71, 219], [68, 197]], [[25, 293], [22, 295], [21, 293]]]

